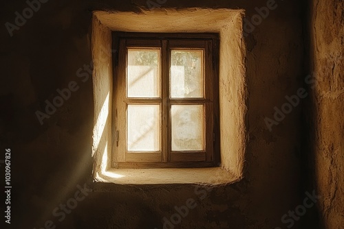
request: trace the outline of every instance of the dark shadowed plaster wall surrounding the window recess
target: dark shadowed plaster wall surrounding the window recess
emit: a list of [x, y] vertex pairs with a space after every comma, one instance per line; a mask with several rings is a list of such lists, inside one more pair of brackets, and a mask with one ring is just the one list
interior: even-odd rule
[[[300, 204], [300, 108], [272, 132], [264, 117], [301, 86], [303, 40], [299, 1], [278, 7], [246, 37], [248, 145], [244, 179], [195, 192], [193, 185], [111, 186], [89, 193], [65, 219], [52, 214], [92, 180], [94, 106], [92, 75], [78, 70], [92, 60], [93, 10], [140, 12], [146, 1], [48, 1], [14, 36], [1, 29], [1, 149], [12, 149], [12, 228], [162, 228], [162, 218], [188, 198], [197, 206], [176, 228], [275, 228]], [[173, 1], [162, 7], [244, 9], [251, 19], [266, 1]], [[1, 23], [14, 22], [25, 1], [6, 2]], [[173, 22], [171, 22], [173, 23]], [[107, 71], [104, 69], [104, 71]], [[80, 73], [80, 72], [79, 72]], [[40, 125], [56, 89], [75, 81], [79, 88]], [[228, 96], [230, 99], [230, 96]], [[228, 136], [230, 137], [230, 136]], [[2, 167], [1, 167], [2, 168]], [[204, 198], [203, 198], [204, 197]], [[59, 220], [61, 219], [61, 221]], [[297, 228], [297, 225], [294, 226]]]

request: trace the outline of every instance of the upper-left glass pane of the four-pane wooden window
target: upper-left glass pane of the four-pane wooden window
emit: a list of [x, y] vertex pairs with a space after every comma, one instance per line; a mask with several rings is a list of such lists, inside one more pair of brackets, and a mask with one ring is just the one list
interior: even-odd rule
[[160, 97], [160, 49], [128, 49], [128, 97]]

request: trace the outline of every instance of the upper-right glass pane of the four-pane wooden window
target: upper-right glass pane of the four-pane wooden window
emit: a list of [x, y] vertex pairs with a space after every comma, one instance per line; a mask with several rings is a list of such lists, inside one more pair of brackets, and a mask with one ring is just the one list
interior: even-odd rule
[[171, 97], [203, 97], [203, 50], [171, 51]]

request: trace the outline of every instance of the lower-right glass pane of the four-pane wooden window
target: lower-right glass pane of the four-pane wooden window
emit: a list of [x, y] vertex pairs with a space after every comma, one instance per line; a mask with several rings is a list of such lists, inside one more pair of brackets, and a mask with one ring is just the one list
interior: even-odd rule
[[203, 105], [172, 105], [171, 117], [172, 151], [203, 150]]

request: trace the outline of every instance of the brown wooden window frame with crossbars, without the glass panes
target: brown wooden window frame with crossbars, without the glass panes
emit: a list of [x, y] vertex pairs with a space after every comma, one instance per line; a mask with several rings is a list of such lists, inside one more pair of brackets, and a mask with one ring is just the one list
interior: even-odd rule
[[[151, 34], [113, 32], [114, 94], [111, 165], [115, 168], [219, 166], [218, 34]], [[127, 98], [127, 48], [160, 48], [160, 98]], [[204, 50], [204, 98], [169, 97], [171, 49]], [[161, 152], [127, 152], [126, 104], [160, 104]], [[171, 105], [204, 104], [203, 151], [171, 152]]]

